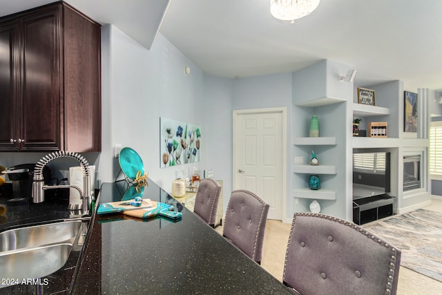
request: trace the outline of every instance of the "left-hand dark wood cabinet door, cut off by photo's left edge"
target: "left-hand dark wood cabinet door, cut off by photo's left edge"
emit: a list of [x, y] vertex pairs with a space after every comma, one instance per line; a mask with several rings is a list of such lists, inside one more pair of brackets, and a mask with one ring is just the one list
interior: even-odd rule
[[[0, 151], [17, 151], [19, 122], [15, 115], [17, 110], [18, 88], [17, 70], [17, 21], [3, 21], [0, 23]], [[11, 142], [12, 141], [12, 142]]]

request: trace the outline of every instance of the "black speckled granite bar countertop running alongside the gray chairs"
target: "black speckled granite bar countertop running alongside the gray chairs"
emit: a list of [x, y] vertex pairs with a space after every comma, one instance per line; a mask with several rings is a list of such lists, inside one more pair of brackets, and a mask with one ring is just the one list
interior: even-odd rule
[[[122, 200], [124, 184], [104, 183], [99, 203]], [[143, 198], [173, 204], [182, 219], [94, 215], [73, 294], [290, 294], [151, 180]]]

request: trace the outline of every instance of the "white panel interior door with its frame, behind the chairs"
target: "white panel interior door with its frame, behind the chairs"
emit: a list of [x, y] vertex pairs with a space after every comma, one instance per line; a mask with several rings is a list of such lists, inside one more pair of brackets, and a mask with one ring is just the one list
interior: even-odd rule
[[282, 220], [285, 204], [285, 108], [233, 111], [233, 189], [247, 189]]

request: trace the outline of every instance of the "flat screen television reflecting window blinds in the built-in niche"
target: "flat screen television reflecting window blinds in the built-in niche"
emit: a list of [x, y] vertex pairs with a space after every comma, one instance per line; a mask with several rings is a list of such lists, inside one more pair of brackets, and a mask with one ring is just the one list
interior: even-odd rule
[[390, 193], [390, 153], [353, 153], [353, 200]]

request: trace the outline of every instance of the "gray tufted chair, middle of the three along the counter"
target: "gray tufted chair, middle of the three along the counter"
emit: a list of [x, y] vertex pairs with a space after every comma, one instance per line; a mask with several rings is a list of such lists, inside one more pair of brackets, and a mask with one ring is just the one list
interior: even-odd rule
[[251, 191], [232, 191], [224, 218], [222, 236], [256, 263], [261, 263], [269, 204]]

